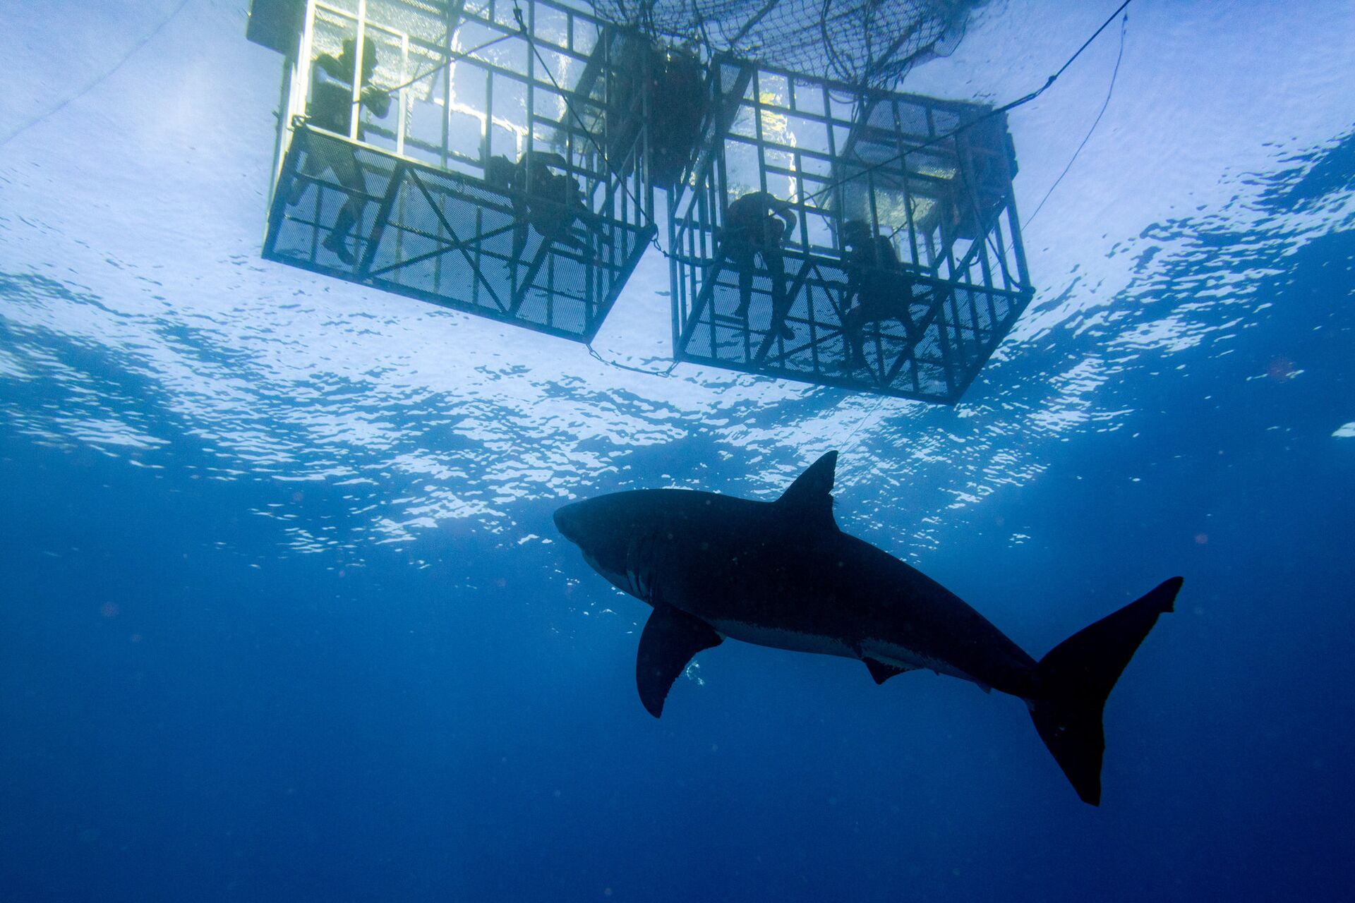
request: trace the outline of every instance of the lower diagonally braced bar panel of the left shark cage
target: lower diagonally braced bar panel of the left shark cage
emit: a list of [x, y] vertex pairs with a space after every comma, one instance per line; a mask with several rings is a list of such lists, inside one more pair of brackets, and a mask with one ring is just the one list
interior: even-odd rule
[[[526, 229], [514, 257], [518, 219], [509, 194], [480, 180], [420, 167], [351, 142], [305, 130], [287, 156], [271, 217], [266, 256], [308, 269], [587, 340], [596, 332], [626, 276], [644, 253], [648, 230], [602, 219], [588, 249], [546, 244]], [[352, 154], [366, 191], [339, 183], [313, 158]], [[350, 198], [363, 200], [346, 264], [325, 246]], [[287, 203], [289, 199], [297, 203]], [[543, 246], [545, 245], [545, 246]]]

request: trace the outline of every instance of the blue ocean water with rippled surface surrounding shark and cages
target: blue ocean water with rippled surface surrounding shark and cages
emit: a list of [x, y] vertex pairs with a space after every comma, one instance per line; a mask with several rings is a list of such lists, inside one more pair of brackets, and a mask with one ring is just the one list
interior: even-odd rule
[[[1027, 226], [1039, 294], [954, 409], [263, 263], [244, 5], [0, 9], [0, 900], [1348, 894], [1348, 4], [1130, 7]], [[989, 4], [909, 88], [1019, 96], [1107, 12]], [[1019, 207], [1115, 54], [1012, 115]], [[665, 284], [646, 259], [604, 357], [665, 366]], [[1099, 808], [1019, 701], [925, 673], [725, 643], [644, 712], [648, 609], [551, 510], [774, 498], [831, 448], [843, 528], [1034, 655], [1186, 577]]]

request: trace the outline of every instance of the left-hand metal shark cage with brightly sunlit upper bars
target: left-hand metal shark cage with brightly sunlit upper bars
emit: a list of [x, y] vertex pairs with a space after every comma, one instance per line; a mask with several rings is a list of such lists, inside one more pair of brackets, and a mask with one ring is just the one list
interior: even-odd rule
[[640, 39], [553, 0], [255, 0], [248, 37], [286, 56], [266, 259], [593, 337], [656, 232]]

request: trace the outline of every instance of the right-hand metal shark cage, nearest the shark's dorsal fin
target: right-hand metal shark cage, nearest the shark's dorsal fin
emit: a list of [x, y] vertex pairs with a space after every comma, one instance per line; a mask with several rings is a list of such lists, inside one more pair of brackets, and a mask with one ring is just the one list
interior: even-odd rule
[[[701, 149], [669, 196], [673, 356], [957, 402], [1033, 294], [1005, 116], [729, 57], [706, 92]], [[753, 191], [789, 202], [795, 227], [772, 252], [783, 275], [757, 259], [741, 311], [726, 214]], [[854, 257], [852, 229], [897, 264]]]

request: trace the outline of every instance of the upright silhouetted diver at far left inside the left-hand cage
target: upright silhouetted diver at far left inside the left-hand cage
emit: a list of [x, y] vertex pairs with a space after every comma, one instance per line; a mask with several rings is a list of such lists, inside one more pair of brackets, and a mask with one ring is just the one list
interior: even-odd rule
[[[312, 65], [310, 102], [306, 104], [306, 122], [348, 135], [352, 125], [352, 79], [358, 69], [358, 42], [346, 38], [339, 56], [321, 54]], [[390, 111], [390, 93], [367, 81], [377, 70], [377, 45], [373, 41], [363, 42], [362, 47], [362, 85], [359, 104], [370, 110], [378, 118], [383, 118]], [[363, 137], [362, 122], [358, 122], [356, 138]], [[367, 199], [367, 180], [362, 173], [362, 164], [358, 162], [356, 152], [337, 141], [316, 141], [306, 146], [306, 161], [301, 165], [301, 172], [310, 179], [318, 179], [325, 169], [333, 172], [335, 179], [348, 194], [335, 218], [335, 225], [321, 242], [339, 260], [346, 264], [354, 263], [352, 252], [348, 249], [348, 233], [362, 217], [362, 208]], [[309, 184], [308, 179], [293, 179], [291, 191], [287, 196], [289, 204], [301, 202], [301, 196]]]

